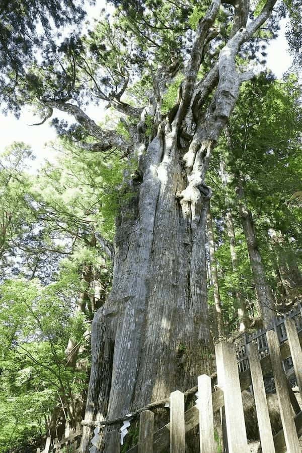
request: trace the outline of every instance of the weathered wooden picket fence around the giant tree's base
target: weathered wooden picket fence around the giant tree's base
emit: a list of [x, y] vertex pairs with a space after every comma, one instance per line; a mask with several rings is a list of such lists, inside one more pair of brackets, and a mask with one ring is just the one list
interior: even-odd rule
[[[300, 313], [300, 312], [299, 312]], [[170, 448], [172, 453], [185, 452], [185, 434], [199, 425], [201, 453], [216, 453], [213, 413], [222, 409], [224, 445], [229, 453], [248, 453], [241, 392], [252, 385], [258, 420], [259, 436], [263, 453], [298, 453], [298, 437], [302, 435], [302, 411], [288, 386], [283, 362], [289, 356], [295, 371], [297, 385], [302, 396], [302, 329], [300, 314], [292, 312], [282, 322], [276, 321], [278, 330], [257, 333], [245, 343], [248, 365], [239, 372], [238, 351], [232, 343], [221, 342], [215, 347], [217, 384], [212, 393], [213, 381], [206, 375], [198, 377], [196, 406], [185, 412], [184, 394], [175, 391], [170, 395], [170, 423], [154, 432], [154, 414], [144, 411], [140, 415], [138, 444], [127, 453], [162, 453]], [[280, 327], [282, 325], [282, 328]], [[282, 336], [281, 336], [282, 334]], [[265, 335], [265, 342], [261, 339]], [[300, 338], [299, 338], [300, 337]], [[280, 344], [280, 338], [282, 343]], [[258, 348], [257, 348], [258, 346]], [[259, 347], [260, 346], [260, 347]], [[263, 349], [263, 351], [262, 351]], [[263, 356], [262, 356], [263, 355]], [[265, 395], [263, 378], [273, 372], [282, 429], [273, 436]], [[200, 408], [200, 410], [199, 410]], [[294, 415], [295, 414], [295, 415]], [[41, 453], [80, 451], [78, 442], [82, 432], [74, 433], [52, 444], [47, 439]], [[106, 453], [120, 452], [120, 433], [112, 431]], [[39, 453], [39, 451], [37, 452]]]

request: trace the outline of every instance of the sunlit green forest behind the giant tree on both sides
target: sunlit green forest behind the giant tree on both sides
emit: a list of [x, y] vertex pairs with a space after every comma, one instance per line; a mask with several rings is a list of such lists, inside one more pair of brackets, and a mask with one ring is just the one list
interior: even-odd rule
[[[45, 17], [57, 26], [67, 25], [61, 10], [56, 16], [47, 5]], [[201, 8], [190, 10], [191, 30], [196, 28]], [[69, 22], [79, 22], [84, 12], [74, 6], [72, 11]], [[27, 13], [21, 15], [20, 29], [34, 33], [34, 12]], [[5, 17], [9, 22], [9, 14]], [[221, 23], [224, 20], [219, 18]], [[41, 24], [47, 30], [43, 16]], [[127, 26], [123, 18], [119, 26]], [[115, 44], [108, 53], [105, 44], [103, 49], [95, 47], [96, 41], [105, 42], [106, 34], [115, 33], [108, 18], [103, 18], [83, 41], [62, 42], [65, 66], [61, 65], [61, 71], [68, 72], [65, 82], [73, 84], [69, 88], [77, 92], [77, 100], [88, 103], [89, 96], [94, 96], [90, 85], [96, 64], [106, 66], [111, 61], [107, 69], [119, 73], [117, 77], [125, 70], [125, 58], [119, 60]], [[11, 56], [20, 36], [9, 27], [0, 29], [0, 35], [8, 43], [0, 59], [4, 108], [19, 114], [23, 104], [36, 103], [44, 121], [52, 107], [47, 102], [42, 109], [38, 106], [42, 73], [47, 73], [49, 91], [60, 77], [49, 57], [55, 40], [45, 43], [42, 33], [41, 42], [35, 42], [31, 36], [23, 43], [24, 52], [14, 59]], [[168, 33], [164, 38], [169, 43]], [[266, 54], [260, 38], [253, 50], [258, 60]], [[43, 70], [31, 66], [32, 42], [43, 49]], [[293, 40], [292, 48], [295, 45]], [[139, 49], [133, 58], [139, 67], [143, 58]], [[240, 56], [238, 60], [241, 64]], [[26, 73], [25, 67], [30, 71]], [[81, 73], [77, 79], [75, 67]], [[182, 77], [179, 72], [169, 84], [163, 115], [177, 104]], [[201, 69], [199, 80], [202, 77]], [[127, 91], [128, 107], [135, 110], [147, 101], [152, 84], [149, 75], [134, 79]], [[116, 133], [113, 148], [96, 147], [83, 124], [53, 119], [58, 131], [57, 141], [50, 145], [57, 155], [55, 163], [33, 172], [35, 156], [26, 143], [13, 142], [1, 153], [0, 453], [34, 451], [46, 436], [61, 437], [65, 429], [79, 428], [84, 417], [91, 323], [110, 293], [115, 225], [121, 221], [123, 207], [131, 203], [124, 179], [130, 175], [138, 184], [140, 178], [127, 145], [133, 124], [123, 112], [106, 107], [98, 126]], [[272, 301], [276, 315], [302, 302], [301, 125], [301, 88], [295, 68], [282, 81], [262, 72], [241, 86], [237, 105], [213, 150], [206, 174], [206, 183], [213, 189], [207, 215], [206, 267], [215, 342], [262, 327], [259, 301], [263, 297]], [[154, 135], [148, 117], [144, 134], [149, 140]]]

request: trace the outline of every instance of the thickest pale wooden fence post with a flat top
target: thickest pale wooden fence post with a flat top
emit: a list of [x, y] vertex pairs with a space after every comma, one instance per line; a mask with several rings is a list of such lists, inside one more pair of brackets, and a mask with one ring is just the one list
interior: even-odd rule
[[229, 451], [247, 453], [248, 442], [235, 351], [232, 343], [221, 342], [215, 346], [217, 380], [218, 386], [223, 390]]

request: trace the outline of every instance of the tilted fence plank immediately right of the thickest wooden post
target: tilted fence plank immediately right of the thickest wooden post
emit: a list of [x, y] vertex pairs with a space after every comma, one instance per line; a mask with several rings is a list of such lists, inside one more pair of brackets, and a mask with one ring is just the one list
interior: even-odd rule
[[247, 348], [250, 362], [250, 370], [253, 383], [253, 393], [255, 399], [258, 428], [262, 451], [265, 453], [275, 453], [273, 434], [269, 419], [269, 412], [266, 401], [264, 381], [261, 372], [258, 348], [250, 343]]

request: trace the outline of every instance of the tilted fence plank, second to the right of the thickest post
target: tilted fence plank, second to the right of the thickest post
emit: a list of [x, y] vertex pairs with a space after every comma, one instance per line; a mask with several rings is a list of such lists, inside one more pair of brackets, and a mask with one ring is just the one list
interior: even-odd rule
[[287, 390], [286, 377], [282, 370], [279, 340], [277, 334], [273, 331], [267, 332], [266, 338], [270, 352], [270, 359], [279, 402], [286, 449], [287, 451], [290, 451], [290, 453], [299, 453], [300, 448], [298, 436], [291, 412], [291, 404]]

